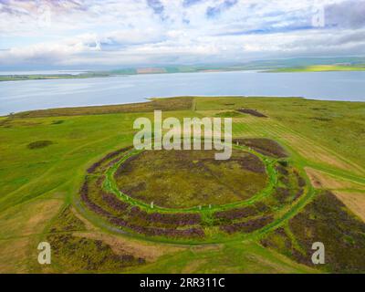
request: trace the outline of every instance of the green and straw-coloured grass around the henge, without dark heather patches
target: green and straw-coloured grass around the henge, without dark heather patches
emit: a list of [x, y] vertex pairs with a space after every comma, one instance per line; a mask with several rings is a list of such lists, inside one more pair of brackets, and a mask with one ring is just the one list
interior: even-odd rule
[[[140, 117], [153, 120], [152, 110], [159, 108], [163, 118], [232, 117], [235, 138], [265, 137], [280, 142], [290, 154], [289, 162], [309, 183], [306, 195], [278, 211], [279, 219], [255, 235], [201, 247], [147, 243], [143, 238], [114, 233], [98, 224], [96, 217], [84, 218], [99, 233], [120, 238], [125, 245], [166, 249], [166, 254], [144, 265], [119, 269], [110, 260], [101, 272], [317, 272], [279, 249], [265, 248], [261, 240], [277, 228], [287, 228], [288, 222], [317, 197], [318, 191], [310, 186], [303, 171], [306, 167], [358, 183], [363, 187], [348, 191], [365, 195], [365, 104], [299, 98], [157, 100], [152, 106], [42, 110], [0, 119], [0, 272], [98, 272], [97, 268], [85, 270], [79, 264], [82, 256], [74, 257], [72, 266], [68, 266], [68, 258], [56, 256], [54, 266], [41, 267], [36, 263], [36, 245], [52, 235], [57, 216], [65, 208], [78, 210], [75, 202], [89, 166], [110, 151], [131, 145], [136, 132], [133, 121]], [[268, 118], [236, 114], [235, 110], [242, 108], [258, 110]], [[96, 234], [94, 229], [88, 230], [88, 235]], [[85, 227], [62, 231], [70, 235], [75, 232], [86, 232]], [[71, 245], [80, 244], [75, 241]], [[90, 251], [98, 246], [94, 242], [87, 245]], [[114, 256], [110, 250], [105, 255]]]

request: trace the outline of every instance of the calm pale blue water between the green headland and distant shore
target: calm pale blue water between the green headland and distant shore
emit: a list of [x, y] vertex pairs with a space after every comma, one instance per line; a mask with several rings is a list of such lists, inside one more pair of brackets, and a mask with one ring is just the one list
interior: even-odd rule
[[[0, 82], [0, 116], [31, 110], [118, 106], [171, 97], [267, 97], [364, 102], [365, 71], [140, 74]], [[334, 80], [338, 80], [334, 82]]]

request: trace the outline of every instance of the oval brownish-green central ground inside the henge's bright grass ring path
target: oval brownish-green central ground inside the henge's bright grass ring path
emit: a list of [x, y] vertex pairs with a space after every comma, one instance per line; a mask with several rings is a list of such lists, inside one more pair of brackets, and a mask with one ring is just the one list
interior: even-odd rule
[[262, 190], [265, 165], [254, 154], [233, 151], [215, 161], [215, 151], [145, 151], [120, 165], [122, 193], [165, 208], [235, 203]]

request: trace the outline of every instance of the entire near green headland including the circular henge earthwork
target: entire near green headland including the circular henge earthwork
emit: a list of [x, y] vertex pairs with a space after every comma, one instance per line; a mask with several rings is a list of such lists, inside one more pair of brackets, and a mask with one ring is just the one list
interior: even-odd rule
[[[232, 161], [134, 152], [133, 121], [153, 110], [231, 117]], [[1, 118], [0, 272], [364, 273], [364, 116], [361, 102], [181, 97]]]

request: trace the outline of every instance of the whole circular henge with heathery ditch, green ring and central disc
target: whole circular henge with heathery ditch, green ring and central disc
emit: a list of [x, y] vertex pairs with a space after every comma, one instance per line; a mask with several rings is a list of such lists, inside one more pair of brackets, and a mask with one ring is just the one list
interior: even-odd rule
[[[262, 189], [248, 196], [255, 178], [263, 183]], [[137, 186], [143, 182], [144, 188], [130, 187], [130, 182]], [[180, 188], [174, 187], [175, 182]], [[183, 183], [193, 186], [184, 190]], [[210, 189], [203, 189], [205, 184]], [[148, 190], [149, 185], [155, 189]], [[254, 235], [280, 222], [280, 214], [299, 201], [306, 185], [291, 163], [245, 146], [235, 146], [229, 161], [215, 161], [214, 151], [135, 151], [127, 147], [89, 167], [80, 199], [113, 231], [153, 237], [153, 241], [218, 243]], [[145, 193], [120, 192], [123, 187]], [[205, 195], [194, 192], [193, 187], [206, 191]]]

